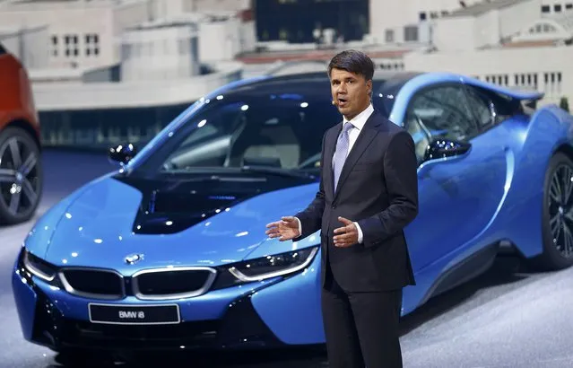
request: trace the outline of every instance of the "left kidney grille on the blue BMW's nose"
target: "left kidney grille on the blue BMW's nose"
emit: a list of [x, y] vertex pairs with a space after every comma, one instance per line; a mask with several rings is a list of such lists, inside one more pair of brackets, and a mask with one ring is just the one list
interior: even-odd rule
[[123, 276], [116, 271], [91, 268], [67, 268], [60, 272], [65, 290], [95, 299], [120, 299], [126, 295]]

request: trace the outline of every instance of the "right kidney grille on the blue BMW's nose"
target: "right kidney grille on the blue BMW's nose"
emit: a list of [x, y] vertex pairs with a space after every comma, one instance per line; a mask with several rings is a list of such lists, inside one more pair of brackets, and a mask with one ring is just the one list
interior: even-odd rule
[[216, 276], [211, 267], [148, 269], [132, 276], [133, 291], [143, 300], [188, 298], [204, 294]]

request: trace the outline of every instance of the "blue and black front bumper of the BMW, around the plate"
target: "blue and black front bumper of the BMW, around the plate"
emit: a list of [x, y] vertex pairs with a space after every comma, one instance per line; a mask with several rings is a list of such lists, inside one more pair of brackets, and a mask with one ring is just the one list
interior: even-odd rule
[[[24, 338], [55, 351], [242, 350], [320, 344], [324, 337], [317, 314], [319, 299], [315, 297], [319, 295], [319, 262], [315, 259], [307, 270], [285, 279], [178, 300], [181, 323], [171, 325], [91, 323], [88, 304], [102, 301], [67, 294], [48, 285], [26, 272], [18, 261], [13, 269], [13, 294]], [[304, 294], [305, 288], [310, 298], [292, 299]], [[142, 301], [128, 297], [116, 303]]]

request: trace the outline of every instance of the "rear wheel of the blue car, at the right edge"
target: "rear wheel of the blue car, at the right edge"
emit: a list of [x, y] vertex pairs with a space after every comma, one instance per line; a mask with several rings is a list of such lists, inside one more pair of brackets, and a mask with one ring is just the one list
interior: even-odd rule
[[543, 254], [541, 266], [561, 269], [573, 265], [573, 162], [556, 153], [543, 186]]

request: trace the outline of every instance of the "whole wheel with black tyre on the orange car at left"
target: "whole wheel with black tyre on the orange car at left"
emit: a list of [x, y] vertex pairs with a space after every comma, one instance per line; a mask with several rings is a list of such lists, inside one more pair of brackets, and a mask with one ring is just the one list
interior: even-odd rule
[[0, 223], [22, 223], [38, 208], [43, 172], [39, 147], [19, 127], [0, 133]]

